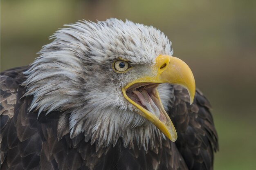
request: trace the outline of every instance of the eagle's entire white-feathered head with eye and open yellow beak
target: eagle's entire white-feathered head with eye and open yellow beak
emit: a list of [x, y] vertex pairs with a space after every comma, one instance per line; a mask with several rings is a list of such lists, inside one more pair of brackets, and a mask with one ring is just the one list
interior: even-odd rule
[[190, 68], [172, 57], [164, 33], [117, 19], [66, 26], [25, 72], [30, 111], [59, 111], [59, 138], [82, 133], [99, 146], [121, 138], [125, 147], [145, 149], [166, 137], [175, 141], [166, 113], [174, 97], [169, 84], [184, 86], [192, 103], [195, 81]]

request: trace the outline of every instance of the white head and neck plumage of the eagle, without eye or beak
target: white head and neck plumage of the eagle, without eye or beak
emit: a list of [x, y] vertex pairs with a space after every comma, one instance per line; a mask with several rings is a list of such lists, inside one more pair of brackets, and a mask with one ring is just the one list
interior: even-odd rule
[[[128, 20], [66, 26], [52, 35], [53, 42], [43, 46], [25, 72], [26, 95], [33, 95], [30, 110], [38, 110], [38, 115], [63, 112], [60, 138], [83, 132], [87, 141], [97, 141], [98, 146], [115, 145], [121, 138], [125, 147], [154, 147], [154, 138], [162, 140], [162, 133], [134, 112], [121, 87], [154, 64], [158, 55], [172, 55], [171, 42], [153, 26]], [[112, 62], [119, 57], [137, 66], [137, 73], [115, 73]], [[167, 109], [170, 88], [162, 84], [158, 90]]]

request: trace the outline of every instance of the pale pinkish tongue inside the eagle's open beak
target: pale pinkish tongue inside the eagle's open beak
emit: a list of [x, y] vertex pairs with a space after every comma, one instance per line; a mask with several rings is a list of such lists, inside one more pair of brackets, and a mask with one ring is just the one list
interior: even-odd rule
[[148, 95], [148, 92], [146, 90], [140, 91], [133, 91], [135, 95], [139, 98], [141, 104], [148, 109], [151, 113], [155, 114], [157, 118], [160, 116], [160, 111], [158, 107], [155, 105], [155, 102], [151, 99], [151, 97]]

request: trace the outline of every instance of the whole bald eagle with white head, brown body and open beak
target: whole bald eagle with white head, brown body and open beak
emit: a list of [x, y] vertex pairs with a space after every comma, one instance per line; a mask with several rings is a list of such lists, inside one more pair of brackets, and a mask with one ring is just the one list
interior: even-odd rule
[[153, 26], [79, 21], [1, 73], [1, 170], [212, 170], [191, 69]]

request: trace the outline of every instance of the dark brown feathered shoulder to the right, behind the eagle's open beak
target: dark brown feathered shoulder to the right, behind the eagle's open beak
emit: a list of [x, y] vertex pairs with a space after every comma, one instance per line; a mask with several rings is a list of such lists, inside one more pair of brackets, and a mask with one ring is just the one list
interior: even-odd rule
[[213, 153], [218, 150], [218, 135], [211, 105], [198, 89], [190, 105], [186, 89], [178, 85], [172, 88], [175, 99], [168, 112], [177, 130], [175, 144], [190, 170], [212, 170]]

